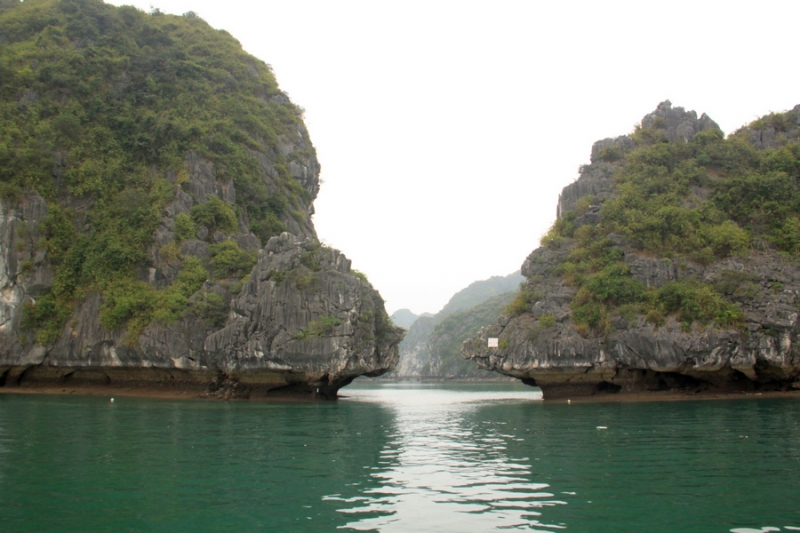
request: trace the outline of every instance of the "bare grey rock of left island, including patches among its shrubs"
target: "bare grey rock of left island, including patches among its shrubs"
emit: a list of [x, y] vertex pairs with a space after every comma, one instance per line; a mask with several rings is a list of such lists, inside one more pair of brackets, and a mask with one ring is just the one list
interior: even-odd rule
[[[209, 387], [225, 397], [272, 391], [334, 398], [355, 377], [395, 366], [402, 330], [390, 324], [377, 291], [350, 271], [350, 261], [316, 240], [310, 223], [297, 224], [297, 234], [271, 238], [264, 248], [245, 221], [236, 232], [210, 238], [201, 226], [196, 238], [181, 241], [177, 257], [163, 257], [159, 251], [176, 240], [178, 214], [212, 197], [235, 198], [233, 183], [219, 183], [209, 163], [190, 154], [188, 165], [190, 192], [178, 187], [164, 209], [143, 281], [174, 283], [189, 257], [213, 271], [214, 243], [257, 250], [258, 261], [244, 282], [225, 275], [206, 281], [184, 316], [153, 320], [136, 338], [130, 328], [104, 327], [104, 299], [90, 292], [52, 344], [34, 341], [25, 306], [35, 305], [54, 282], [47, 249], [37, 245], [48, 206], [38, 195], [0, 201], [0, 383], [156, 382]], [[315, 190], [316, 161], [299, 168], [313, 173], [308, 185]]]

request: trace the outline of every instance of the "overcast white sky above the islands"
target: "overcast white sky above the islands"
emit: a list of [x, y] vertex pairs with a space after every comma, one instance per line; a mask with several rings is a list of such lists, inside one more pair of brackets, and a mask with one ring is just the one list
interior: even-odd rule
[[659, 102], [730, 133], [800, 104], [800, 2], [113, 0], [195, 11], [306, 110], [320, 239], [389, 313], [517, 270], [594, 141]]

